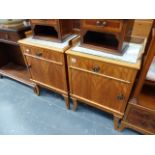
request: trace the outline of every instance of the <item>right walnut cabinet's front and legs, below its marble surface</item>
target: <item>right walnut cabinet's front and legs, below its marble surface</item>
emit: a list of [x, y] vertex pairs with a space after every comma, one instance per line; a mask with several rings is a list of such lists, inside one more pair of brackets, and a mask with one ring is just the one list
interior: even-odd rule
[[[67, 52], [70, 96], [114, 115], [115, 129], [123, 117], [138, 68], [105, 58]], [[135, 65], [136, 66], [136, 65]], [[140, 66], [139, 66], [140, 67]]]

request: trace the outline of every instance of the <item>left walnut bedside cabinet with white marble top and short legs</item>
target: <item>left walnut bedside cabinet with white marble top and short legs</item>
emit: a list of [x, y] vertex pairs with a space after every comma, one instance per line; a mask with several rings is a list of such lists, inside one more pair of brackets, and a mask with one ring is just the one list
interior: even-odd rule
[[[74, 40], [72, 38], [72, 40]], [[65, 50], [67, 43], [52, 43], [48, 41], [27, 38], [19, 41], [31, 81], [40, 87], [62, 94], [69, 108], [68, 81], [66, 73]], [[39, 95], [39, 87], [36, 93]]]

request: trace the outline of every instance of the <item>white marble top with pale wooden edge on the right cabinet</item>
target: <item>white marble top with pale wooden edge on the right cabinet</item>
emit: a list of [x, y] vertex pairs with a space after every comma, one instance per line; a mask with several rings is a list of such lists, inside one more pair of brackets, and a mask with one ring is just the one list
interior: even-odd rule
[[146, 45], [146, 39], [143, 38], [142, 40], [139, 43], [130, 43], [129, 48], [122, 56], [83, 48], [79, 45], [67, 50], [66, 53], [139, 70]]

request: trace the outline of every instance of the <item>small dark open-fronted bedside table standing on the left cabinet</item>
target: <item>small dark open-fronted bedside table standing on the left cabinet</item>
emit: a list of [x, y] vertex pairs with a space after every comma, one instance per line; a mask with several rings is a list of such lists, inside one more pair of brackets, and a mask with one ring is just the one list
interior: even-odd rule
[[72, 34], [71, 19], [32, 19], [33, 37], [62, 42]]

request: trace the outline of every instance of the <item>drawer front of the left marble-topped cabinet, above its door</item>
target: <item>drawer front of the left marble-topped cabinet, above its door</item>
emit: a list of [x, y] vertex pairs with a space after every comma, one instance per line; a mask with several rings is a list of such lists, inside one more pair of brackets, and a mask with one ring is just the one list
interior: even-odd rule
[[22, 51], [23, 54], [27, 56], [32, 56], [35, 58], [43, 58], [45, 60], [52, 60], [56, 62], [63, 62], [63, 53], [56, 52], [53, 50], [22, 45]]

